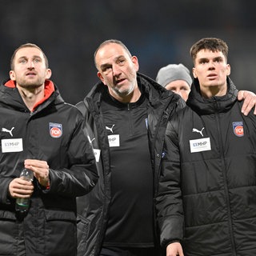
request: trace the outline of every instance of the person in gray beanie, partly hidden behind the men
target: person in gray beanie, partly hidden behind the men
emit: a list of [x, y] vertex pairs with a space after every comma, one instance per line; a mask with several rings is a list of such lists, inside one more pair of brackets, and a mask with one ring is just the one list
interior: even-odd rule
[[156, 82], [166, 90], [179, 94], [186, 101], [190, 94], [192, 78], [190, 70], [183, 64], [169, 64], [158, 71]]

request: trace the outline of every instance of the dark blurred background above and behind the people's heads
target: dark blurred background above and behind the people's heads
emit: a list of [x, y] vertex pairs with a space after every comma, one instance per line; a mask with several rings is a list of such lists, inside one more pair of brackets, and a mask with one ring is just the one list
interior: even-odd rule
[[0, 0], [0, 79], [25, 42], [49, 58], [52, 80], [66, 102], [77, 103], [98, 82], [93, 54], [110, 38], [138, 57], [139, 71], [155, 78], [169, 63], [190, 70], [190, 46], [218, 37], [230, 48], [230, 78], [240, 90], [256, 86], [254, 0]]

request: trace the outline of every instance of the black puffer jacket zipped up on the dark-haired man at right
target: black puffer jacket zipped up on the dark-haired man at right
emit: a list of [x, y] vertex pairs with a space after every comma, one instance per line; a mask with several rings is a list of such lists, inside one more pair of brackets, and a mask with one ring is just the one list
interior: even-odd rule
[[162, 246], [182, 240], [186, 256], [256, 255], [256, 117], [227, 82], [206, 99], [195, 79], [166, 129], [158, 223]]

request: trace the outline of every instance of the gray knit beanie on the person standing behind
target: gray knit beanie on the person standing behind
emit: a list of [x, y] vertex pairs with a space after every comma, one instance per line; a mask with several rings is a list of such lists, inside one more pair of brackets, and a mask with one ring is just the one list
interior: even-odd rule
[[190, 70], [182, 64], [169, 64], [158, 71], [156, 82], [161, 86], [165, 87], [170, 82], [176, 80], [184, 80], [191, 86], [192, 78], [190, 76]]

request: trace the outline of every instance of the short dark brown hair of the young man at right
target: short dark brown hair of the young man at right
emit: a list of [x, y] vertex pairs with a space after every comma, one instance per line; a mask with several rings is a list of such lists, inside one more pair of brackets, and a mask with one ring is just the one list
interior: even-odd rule
[[190, 48], [190, 56], [192, 57], [193, 62], [197, 57], [198, 51], [205, 49], [213, 52], [221, 51], [227, 60], [229, 47], [227, 46], [226, 42], [219, 38], [202, 38], [198, 42], [194, 43], [194, 45]]

